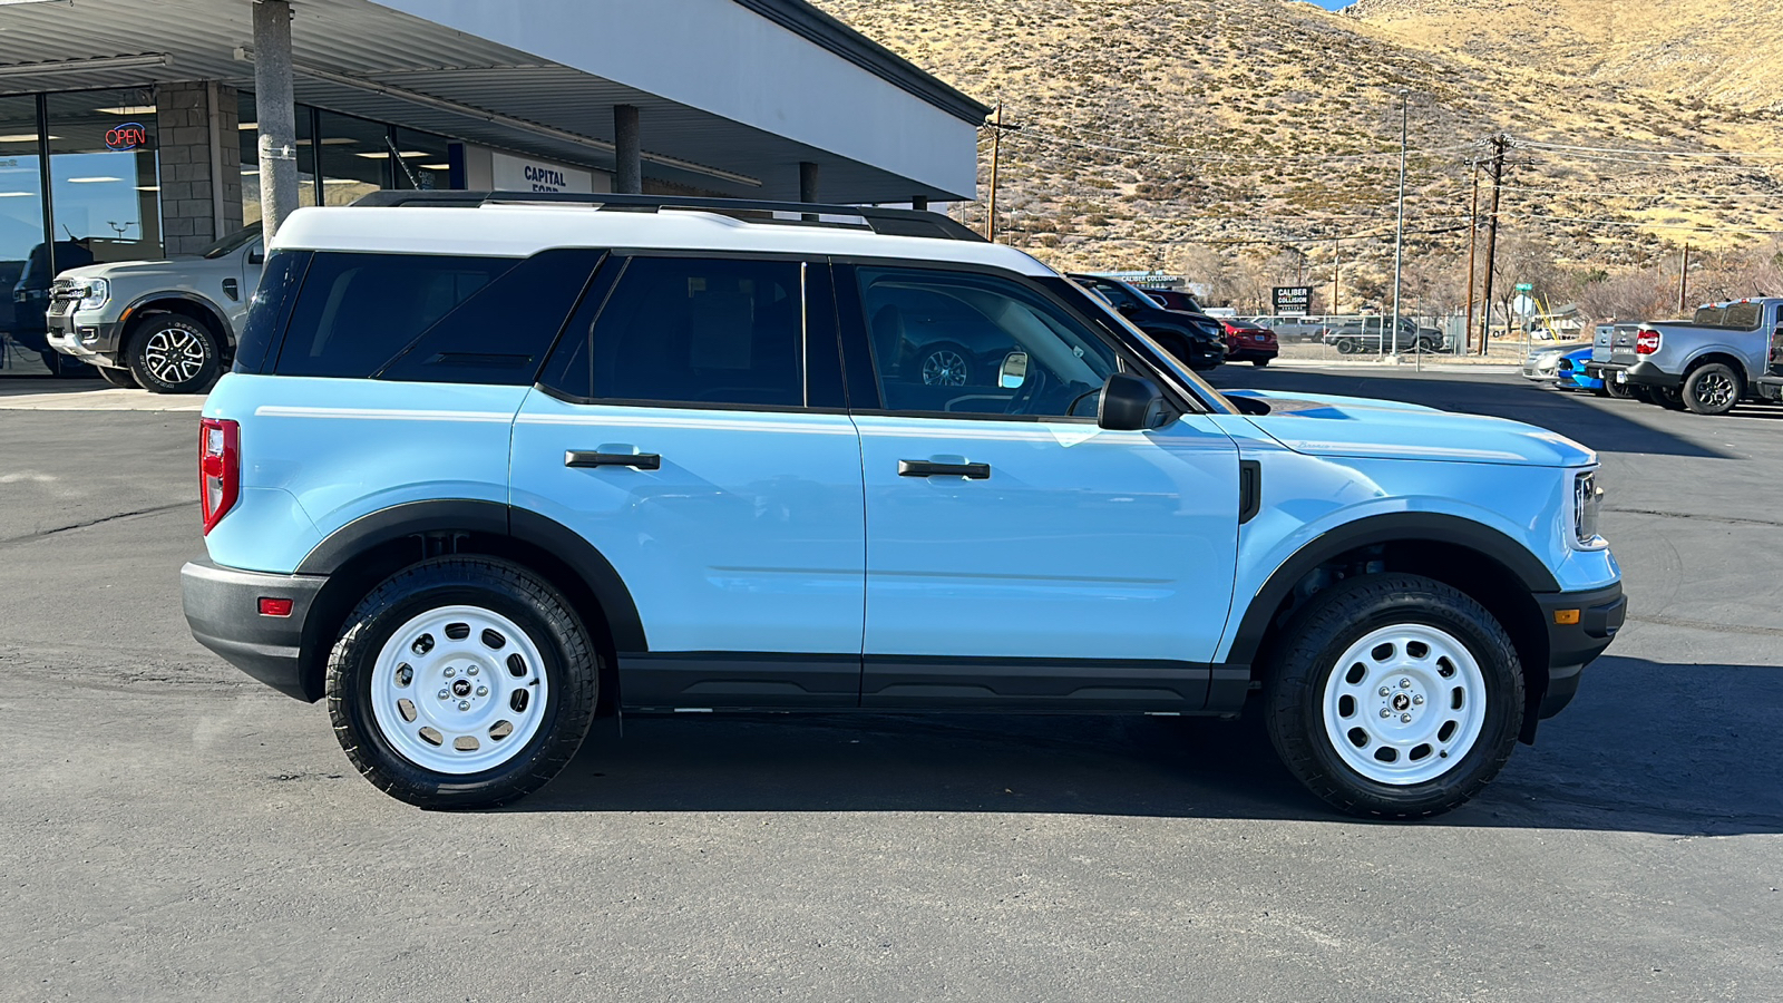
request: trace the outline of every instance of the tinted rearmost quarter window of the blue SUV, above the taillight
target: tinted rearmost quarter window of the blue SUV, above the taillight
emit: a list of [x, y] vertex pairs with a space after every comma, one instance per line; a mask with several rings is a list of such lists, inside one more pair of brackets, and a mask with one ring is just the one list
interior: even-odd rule
[[316, 252], [275, 371], [369, 377], [519, 262], [512, 257]]

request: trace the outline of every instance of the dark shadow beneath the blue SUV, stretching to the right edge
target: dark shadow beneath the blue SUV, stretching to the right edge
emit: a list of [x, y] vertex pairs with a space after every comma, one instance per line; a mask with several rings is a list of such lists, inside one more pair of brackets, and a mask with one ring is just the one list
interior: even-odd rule
[[[1719, 694], [1719, 696], [1717, 696]], [[1601, 659], [1541, 741], [1428, 825], [1783, 832], [1783, 667]], [[1248, 721], [708, 716], [603, 721], [515, 812], [1045, 812], [1343, 821]]]

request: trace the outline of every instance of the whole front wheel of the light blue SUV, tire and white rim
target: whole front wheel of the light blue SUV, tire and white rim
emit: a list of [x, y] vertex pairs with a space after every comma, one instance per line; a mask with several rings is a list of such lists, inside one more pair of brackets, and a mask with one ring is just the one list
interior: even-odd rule
[[1364, 575], [1319, 593], [1273, 662], [1277, 753], [1355, 816], [1455, 808], [1498, 776], [1517, 741], [1523, 666], [1510, 637], [1432, 578]]

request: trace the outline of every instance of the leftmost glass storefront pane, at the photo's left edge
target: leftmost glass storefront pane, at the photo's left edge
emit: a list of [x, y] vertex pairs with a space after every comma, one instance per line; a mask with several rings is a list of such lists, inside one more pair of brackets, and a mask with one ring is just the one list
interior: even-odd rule
[[0, 371], [43, 371], [41, 353], [48, 344], [39, 293], [48, 293], [48, 284], [34, 291], [23, 278], [32, 257], [46, 253], [37, 98], [0, 98]]

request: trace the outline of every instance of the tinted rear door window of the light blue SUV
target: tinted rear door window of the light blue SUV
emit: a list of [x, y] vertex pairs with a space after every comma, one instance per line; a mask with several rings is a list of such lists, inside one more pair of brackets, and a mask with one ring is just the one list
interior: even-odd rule
[[[547, 384], [578, 398], [804, 405], [802, 266], [637, 257]], [[592, 311], [581, 311], [587, 316]]]

